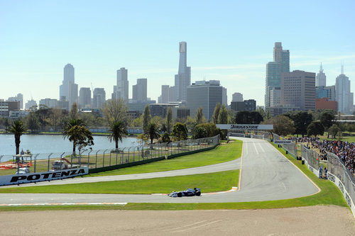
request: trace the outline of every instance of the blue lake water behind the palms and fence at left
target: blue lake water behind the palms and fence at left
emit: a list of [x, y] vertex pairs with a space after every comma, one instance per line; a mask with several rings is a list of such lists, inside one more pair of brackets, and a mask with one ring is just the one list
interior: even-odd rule
[[[92, 150], [114, 149], [114, 142], [110, 142], [107, 136], [93, 136]], [[125, 137], [119, 142], [119, 148], [140, 145], [135, 137]], [[23, 149], [35, 153], [72, 152], [72, 142], [63, 139], [62, 135], [22, 135], [20, 152]], [[13, 135], [0, 135], [0, 156], [16, 153], [15, 137]]]

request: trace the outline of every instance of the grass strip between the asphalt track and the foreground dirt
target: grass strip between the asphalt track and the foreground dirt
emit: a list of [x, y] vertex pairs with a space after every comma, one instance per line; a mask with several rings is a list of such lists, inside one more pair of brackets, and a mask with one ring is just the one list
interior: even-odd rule
[[[274, 145], [277, 148], [277, 145]], [[322, 191], [312, 196], [292, 198], [278, 201], [256, 201], [243, 203], [128, 203], [126, 206], [4, 206], [0, 211], [8, 210], [217, 210], [217, 209], [270, 209], [292, 208], [316, 205], [337, 205], [348, 207], [342, 193], [331, 181], [318, 179], [305, 165], [285, 154], [291, 162], [299, 167]], [[348, 207], [349, 208], [349, 207]], [[350, 208], [349, 208], [350, 210]]]

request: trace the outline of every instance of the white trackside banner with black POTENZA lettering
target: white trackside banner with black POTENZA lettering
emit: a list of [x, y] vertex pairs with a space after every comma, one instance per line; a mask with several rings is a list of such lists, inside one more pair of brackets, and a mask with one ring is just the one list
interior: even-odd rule
[[29, 174], [13, 174], [0, 176], [0, 186], [11, 184], [26, 184], [38, 181], [49, 181], [55, 179], [67, 179], [75, 176], [89, 174], [88, 167], [73, 169], [55, 170], [53, 172], [35, 172]]

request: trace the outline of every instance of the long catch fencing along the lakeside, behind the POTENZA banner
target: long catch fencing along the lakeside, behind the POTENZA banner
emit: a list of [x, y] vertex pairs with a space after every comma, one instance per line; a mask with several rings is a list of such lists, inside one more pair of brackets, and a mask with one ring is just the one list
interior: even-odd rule
[[78, 167], [88, 167], [89, 173], [102, 172], [209, 150], [218, 144], [219, 135], [197, 140], [154, 143], [152, 145], [143, 145], [142, 143], [142, 145], [124, 147], [119, 150], [84, 148], [76, 154], [72, 152], [53, 152], [24, 154], [17, 158], [9, 155], [0, 155], [0, 175], [15, 174], [17, 169], [23, 167], [28, 167], [31, 173]]

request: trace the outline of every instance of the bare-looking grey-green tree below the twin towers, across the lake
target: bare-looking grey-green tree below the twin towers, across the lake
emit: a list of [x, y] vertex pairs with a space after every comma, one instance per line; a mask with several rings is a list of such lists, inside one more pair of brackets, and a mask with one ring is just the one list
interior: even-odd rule
[[102, 108], [104, 119], [107, 125], [116, 121], [122, 120], [128, 123], [126, 100], [124, 99], [111, 99], [104, 103]]

